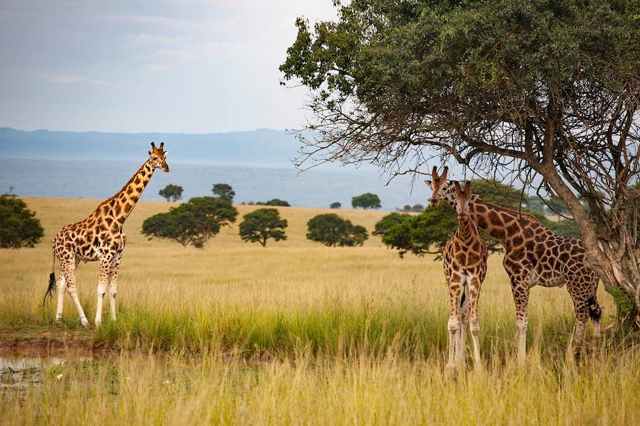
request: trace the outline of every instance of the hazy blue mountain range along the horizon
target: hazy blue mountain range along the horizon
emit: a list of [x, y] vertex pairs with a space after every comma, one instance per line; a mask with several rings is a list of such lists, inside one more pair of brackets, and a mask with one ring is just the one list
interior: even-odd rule
[[[259, 129], [206, 135], [19, 131], [0, 128], [0, 193], [9, 186], [21, 196], [106, 198], [146, 161], [149, 143], [165, 143], [170, 173], [157, 172], [144, 193], [160, 200], [168, 183], [184, 187], [184, 199], [211, 195], [213, 183], [229, 183], [236, 201], [282, 198], [293, 206], [328, 207], [377, 193], [385, 210], [426, 204], [429, 191], [411, 177], [386, 176], [372, 167], [320, 166], [298, 173], [291, 163], [299, 142], [284, 131]], [[412, 189], [414, 190], [413, 193]]]

